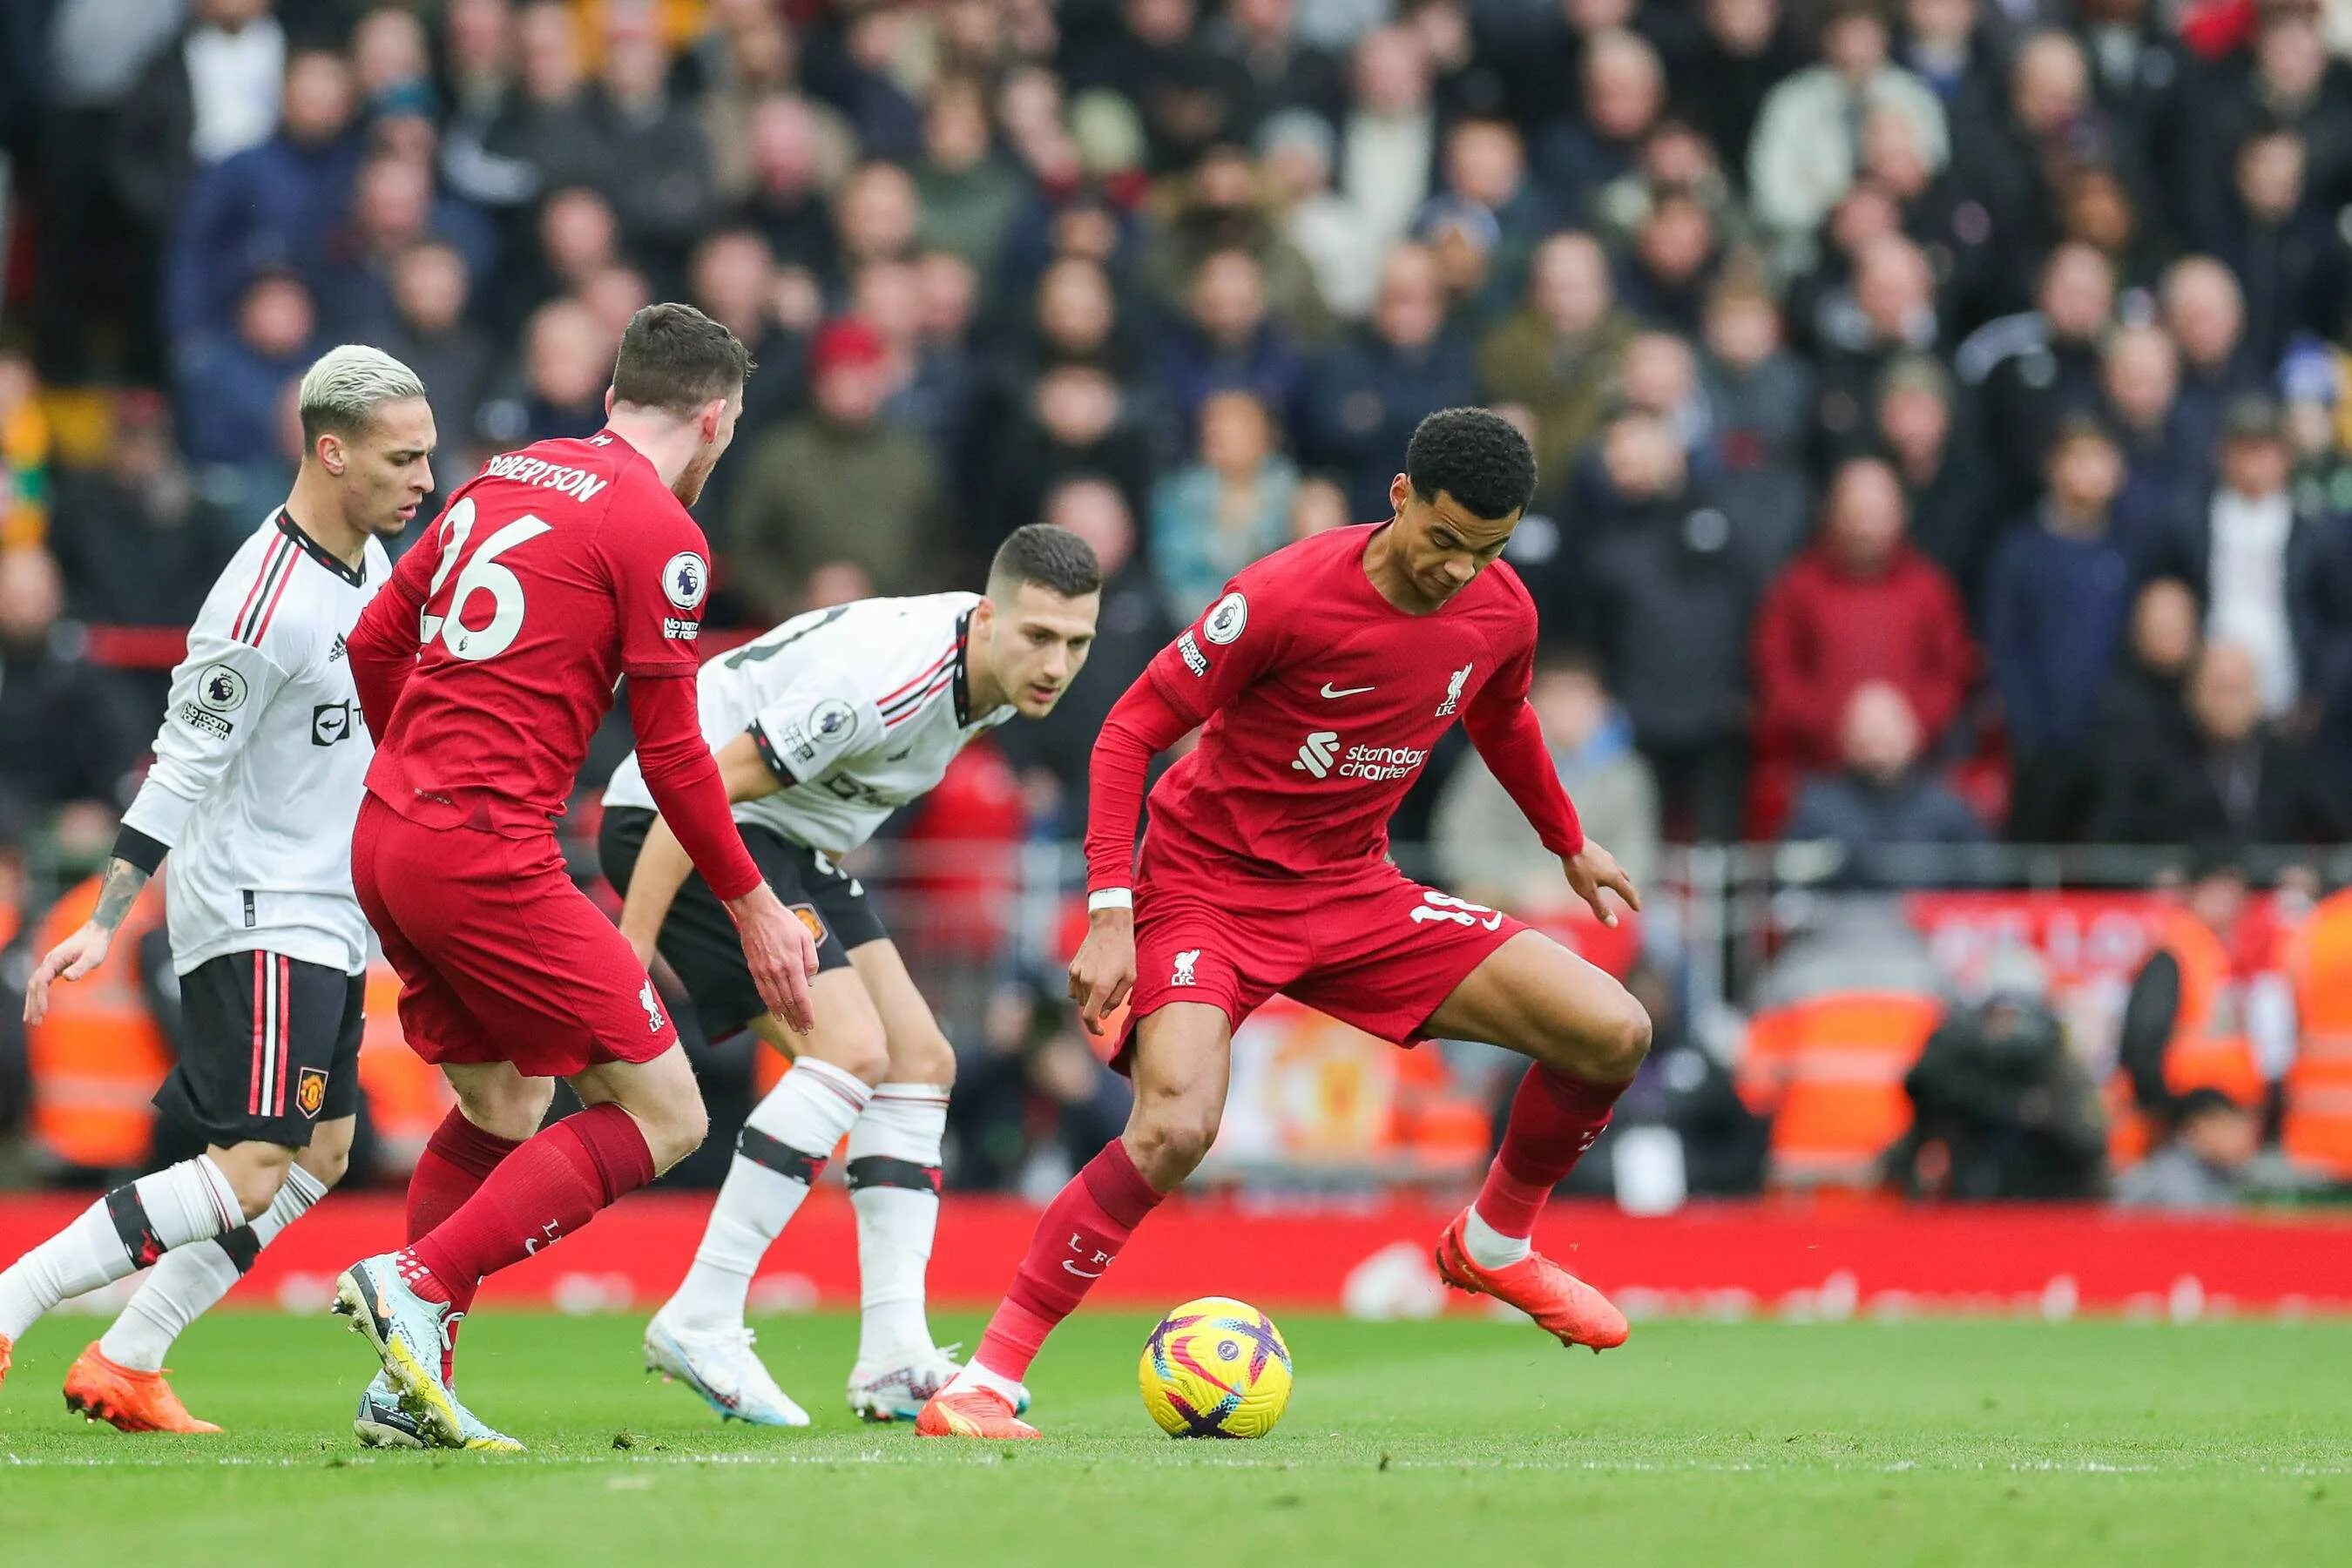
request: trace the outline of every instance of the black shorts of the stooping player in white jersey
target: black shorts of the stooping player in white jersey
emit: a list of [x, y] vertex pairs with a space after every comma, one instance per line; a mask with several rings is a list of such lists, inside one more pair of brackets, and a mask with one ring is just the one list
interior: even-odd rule
[[[637, 853], [644, 835], [654, 827], [654, 813], [642, 806], [614, 806], [604, 813], [597, 832], [597, 860], [604, 877], [628, 896], [628, 879], [637, 870]], [[776, 898], [809, 926], [816, 938], [816, 969], [847, 969], [849, 952], [889, 936], [882, 917], [866, 898], [866, 884], [826, 860], [807, 844], [760, 827], [736, 823], [743, 830], [743, 849], [753, 865], [776, 889]], [[694, 872], [677, 889], [668, 917], [656, 938], [661, 957], [677, 971], [677, 980], [694, 999], [703, 1037], [720, 1041], [741, 1032], [753, 1018], [767, 1013], [760, 987], [750, 983], [750, 966], [743, 961], [743, 938], [736, 936], [734, 917], [713, 893], [710, 884]]]

